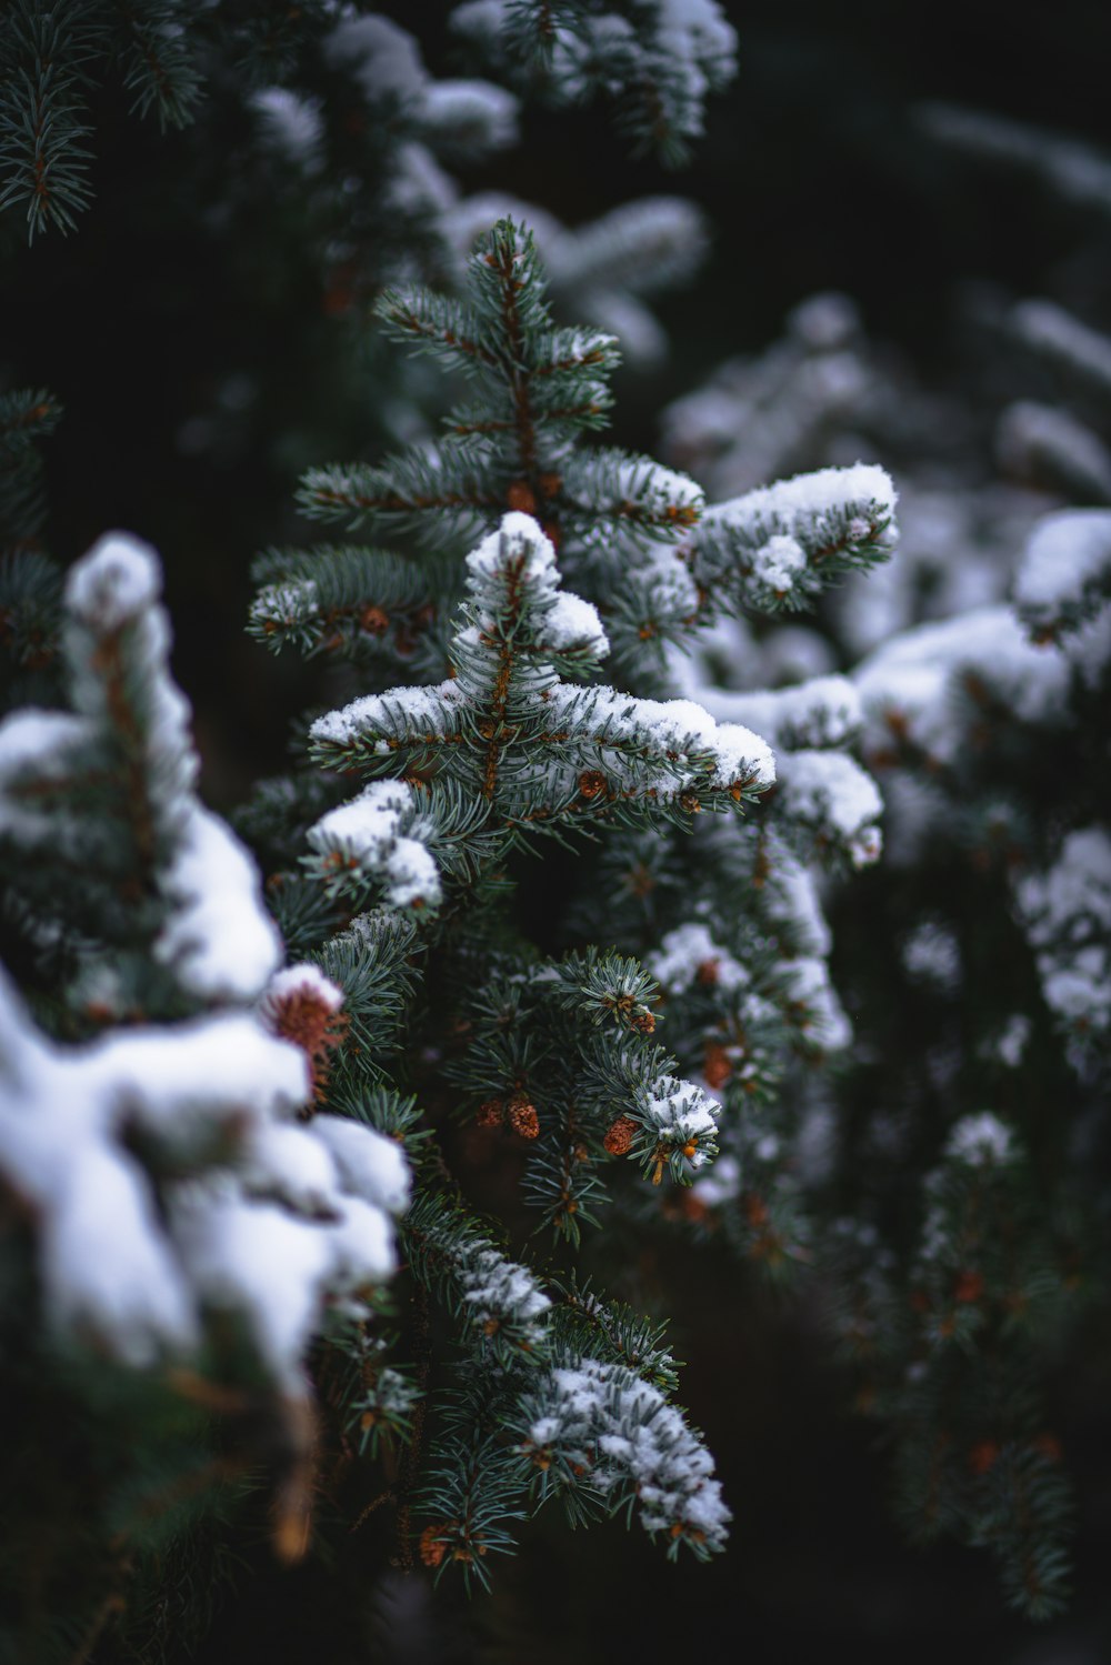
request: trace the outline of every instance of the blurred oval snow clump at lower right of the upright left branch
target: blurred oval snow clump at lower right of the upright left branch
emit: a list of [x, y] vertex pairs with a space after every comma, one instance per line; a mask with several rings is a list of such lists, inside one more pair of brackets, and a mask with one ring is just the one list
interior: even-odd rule
[[155, 942], [183, 989], [205, 1001], [252, 1001], [281, 964], [281, 937], [258, 869], [218, 816], [190, 803], [160, 889], [173, 912]]

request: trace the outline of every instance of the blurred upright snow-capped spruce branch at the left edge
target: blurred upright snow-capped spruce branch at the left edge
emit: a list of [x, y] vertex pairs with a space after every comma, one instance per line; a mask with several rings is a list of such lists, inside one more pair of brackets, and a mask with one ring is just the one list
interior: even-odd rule
[[108, 956], [98, 977], [85, 951], [85, 976], [98, 1007], [135, 1001], [155, 1014], [170, 999], [147, 984], [155, 967], [178, 997], [207, 1004], [253, 996], [280, 957], [247, 851], [193, 793], [160, 589], [147, 544], [102, 538], [65, 586], [75, 711], [18, 711], [0, 726], [0, 847], [13, 889], [35, 897], [45, 922], [62, 902], [52, 862], [80, 866], [80, 899], [67, 896], [57, 931], [142, 944], [145, 966]]

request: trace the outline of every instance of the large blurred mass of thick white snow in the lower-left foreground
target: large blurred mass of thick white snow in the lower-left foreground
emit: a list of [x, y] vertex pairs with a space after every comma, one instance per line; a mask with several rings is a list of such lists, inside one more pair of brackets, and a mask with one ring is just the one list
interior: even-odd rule
[[[58, 1330], [148, 1365], [195, 1345], [203, 1305], [225, 1305], [291, 1389], [325, 1295], [393, 1272], [401, 1151], [355, 1122], [336, 1137], [333, 1117], [290, 1126], [311, 1097], [308, 1061], [255, 1014], [62, 1049], [0, 977], [0, 1174], [33, 1209]], [[167, 1154], [220, 1131], [223, 1156], [163, 1179], [157, 1205], [135, 1127]]]

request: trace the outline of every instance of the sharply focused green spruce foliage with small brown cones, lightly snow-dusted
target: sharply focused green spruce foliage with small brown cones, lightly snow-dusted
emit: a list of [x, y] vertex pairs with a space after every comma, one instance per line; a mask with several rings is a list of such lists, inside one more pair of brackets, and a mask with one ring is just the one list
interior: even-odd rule
[[[320, 778], [303, 773], [268, 783], [245, 826], [277, 857], [285, 839], [280, 919], [310, 917], [321, 896], [331, 909], [338, 936], [315, 952], [351, 1002], [398, 922], [421, 989], [401, 997], [405, 1052], [383, 1067], [426, 1106], [441, 1152], [425, 1147], [403, 1235], [408, 1275], [461, 1354], [451, 1394], [423, 1404], [401, 1518], [416, 1507], [428, 1522], [420, 1553], [438, 1573], [460, 1563], [481, 1583], [516, 1520], [553, 1497], [573, 1520], [636, 1508], [670, 1553], [706, 1555], [728, 1510], [668, 1404], [671, 1364], [561, 1267], [570, 1250], [593, 1264], [613, 1215], [660, 1229], [671, 1187], [723, 1137], [755, 1142], [753, 1106], [790, 1061], [844, 1042], [805, 862], [873, 859], [878, 799], [836, 749], [851, 731], [843, 684], [783, 713], [798, 749], [766, 804], [768, 743], [660, 698], [661, 649], [718, 609], [801, 604], [883, 559], [891, 485], [826, 471], [706, 511], [685, 476], [591, 443], [616, 343], [553, 325], [531, 236], [510, 220], [478, 240], [465, 298], [391, 290], [378, 311], [461, 373], [465, 401], [435, 445], [301, 483], [316, 519], [408, 534], [411, 553], [260, 559], [252, 631], [373, 681], [310, 724], [331, 806], [316, 813]], [[606, 658], [616, 683], [598, 681]], [[410, 666], [428, 679], [396, 683]], [[351, 778], [366, 783], [355, 796]], [[550, 861], [553, 846], [573, 866], [536, 939], [518, 911], [521, 856]], [[366, 1011], [360, 1022], [373, 1032]], [[358, 1094], [365, 1076], [340, 1047], [326, 1096]], [[468, 1199], [491, 1152], [520, 1172], [503, 1182], [501, 1240]], [[523, 1259], [530, 1210], [550, 1247], [533, 1230]], [[771, 1259], [796, 1254], [765, 1219]]]

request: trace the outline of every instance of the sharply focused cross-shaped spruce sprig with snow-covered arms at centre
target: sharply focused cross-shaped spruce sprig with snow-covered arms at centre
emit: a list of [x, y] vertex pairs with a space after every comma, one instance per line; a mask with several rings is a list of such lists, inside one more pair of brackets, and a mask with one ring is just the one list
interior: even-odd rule
[[[606, 636], [596, 609], [560, 589], [555, 549], [530, 516], [506, 514], [466, 569], [468, 601], [450, 648], [455, 676], [438, 688], [366, 694], [318, 718], [320, 761], [368, 773], [435, 763], [443, 779], [485, 799], [498, 824], [521, 826], [635, 809], [688, 816], [733, 808], [771, 784], [771, 753], [750, 729], [716, 724], [690, 701], [560, 681], [560, 673], [593, 669]], [[398, 791], [410, 788], [355, 803], [396, 816]], [[335, 839], [346, 841], [353, 857], [355, 816], [353, 804], [331, 811], [315, 841], [328, 842], [328, 854]], [[385, 849], [376, 831], [360, 839], [360, 849]]]

